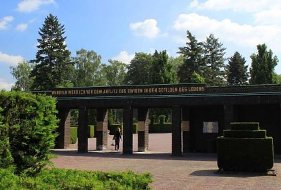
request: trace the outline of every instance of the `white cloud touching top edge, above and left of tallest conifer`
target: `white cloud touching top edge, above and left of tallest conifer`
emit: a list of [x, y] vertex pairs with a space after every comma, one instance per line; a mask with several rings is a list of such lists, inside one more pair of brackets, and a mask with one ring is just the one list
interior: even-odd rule
[[23, 0], [18, 3], [16, 8], [19, 12], [29, 13], [38, 10], [41, 5], [55, 4], [55, 0]]

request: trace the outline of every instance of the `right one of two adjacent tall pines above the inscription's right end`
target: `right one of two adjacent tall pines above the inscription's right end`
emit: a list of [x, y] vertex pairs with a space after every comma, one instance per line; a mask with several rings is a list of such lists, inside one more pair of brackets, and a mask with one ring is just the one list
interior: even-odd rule
[[205, 61], [207, 68], [204, 72], [204, 79], [208, 86], [225, 85], [225, 71], [223, 58], [226, 48], [222, 47], [222, 43], [210, 34], [204, 42]]

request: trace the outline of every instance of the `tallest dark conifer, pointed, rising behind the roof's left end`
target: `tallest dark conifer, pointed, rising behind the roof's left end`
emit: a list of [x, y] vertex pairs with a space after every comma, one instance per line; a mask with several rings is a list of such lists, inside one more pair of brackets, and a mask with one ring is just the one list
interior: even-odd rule
[[61, 25], [52, 14], [45, 18], [39, 29], [41, 39], [38, 41], [38, 51], [35, 68], [30, 77], [34, 77], [33, 90], [49, 90], [56, 86], [66, 86], [70, 82], [70, 71], [73, 64], [70, 61], [70, 51], [66, 48], [64, 25]]

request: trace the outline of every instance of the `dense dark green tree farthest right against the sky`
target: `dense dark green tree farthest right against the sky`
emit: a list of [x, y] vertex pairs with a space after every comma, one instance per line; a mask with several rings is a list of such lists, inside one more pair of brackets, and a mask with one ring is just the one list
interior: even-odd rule
[[250, 56], [252, 63], [250, 68], [251, 78], [249, 80], [250, 84], [274, 84], [274, 68], [277, 65], [277, 56], [273, 57], [273, 52], [271, 49], [266, 50], [265, 44], [257, 45], [257, 54], [252, 54]]

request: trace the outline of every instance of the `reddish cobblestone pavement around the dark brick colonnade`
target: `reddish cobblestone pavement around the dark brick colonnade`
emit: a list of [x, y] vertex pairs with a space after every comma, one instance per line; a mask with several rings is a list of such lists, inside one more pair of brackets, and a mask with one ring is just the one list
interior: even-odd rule
[[[181, 157], [172, 157], [170, 133], [149, 135], [148, 153], [122, 155], [121, 151], [107, 150], [77, 154], [75, 145], [72, 145], [72, 149], [53, 151], [59, 156], [52, 161], [59, 168], [150, 172], [154, 178], [150, 186], [155, 190], [281, 190], [280, 156], [275, 159], [274, 164], [277, 176], [260, 173], [215, 173], [215, 154], [188, 153]], [[93, 146], [93, 140], [89, 139], [92, 143], [89, 144], [89, 149]], [[110, 144], [111, 140], [108, 141]]]

